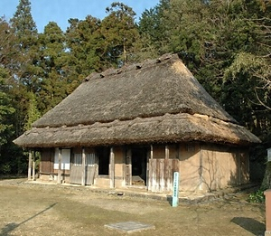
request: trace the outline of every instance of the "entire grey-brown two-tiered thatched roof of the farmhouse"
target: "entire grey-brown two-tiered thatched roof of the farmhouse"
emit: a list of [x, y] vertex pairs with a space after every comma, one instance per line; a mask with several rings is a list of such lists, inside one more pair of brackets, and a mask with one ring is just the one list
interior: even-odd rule
[[177, 55], [91, 74], [14, 143], [25, 147], [204, 141], [258, 143]]

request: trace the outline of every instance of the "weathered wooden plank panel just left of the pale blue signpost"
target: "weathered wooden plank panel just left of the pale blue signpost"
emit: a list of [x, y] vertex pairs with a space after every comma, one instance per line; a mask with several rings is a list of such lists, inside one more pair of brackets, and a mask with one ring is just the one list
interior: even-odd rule
[[173, 173], [179, 172], [178, 159], [149, 159], [149, 190], [156, 193], [170, 192]]

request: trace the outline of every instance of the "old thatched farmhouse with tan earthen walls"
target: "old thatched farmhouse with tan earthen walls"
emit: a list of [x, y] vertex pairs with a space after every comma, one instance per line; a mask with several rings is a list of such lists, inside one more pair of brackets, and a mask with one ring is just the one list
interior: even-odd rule
[[[52, 175], [58, 172], [62, 181], [67, 175], [66, 181], [69, 182], [68, 175], [72, 172], [74, 156], [83, 158], [84, 155], [91, 154], [92, 157], [89, 158], [94, 158], [92, 161], [96, 169], [92, 171], [90, 184], [98, 184], [98, 169], [102, 169], [99, 165], [106, 163], [109, 165], [106, 167], [109, 168], [106, 174], [111, 187], [116, 184], [123, 187], [133, 185], [134, 164], [137, 165], [136, 169], [141, 168], [141, 172], [137, 173], [143, 176], [139, 178], [143, 179], [141, 183], [148, 190], [159, 191], [169, 190], [170, 187], [161, 187], [162, 180], [158, 180], [157, 176], [154, 177], [155, 180], [151, 179], [150, 172], [156, 172], [150, 170], [151, 162], [161, 158], [173, 160], [174, 168], [181, 171], [182, 161], [185, 159], [187, 165], [191, 159], [191, 164], [196, 163], [196, 175], [199, 175], [199, 165], [208, 162], [210, 152], [211, 161], [216, 159], [216, 165], [221, 165], [226, 159], [229, 166], [232, 165], [220, 173], [227, 173], [227, 177], [218, 177], [220, 180], [216, 180], [215, 186], [207, 183], [206, 187], [203, 187], [204, 173], [196, 176], [196, 180], [195, 176], [192, 176], [191, 183], [188, 174], [183, 189], [213, 189], [224, 187], [231, 182], [246, 183], [248, 168], [240, 165], [241, 161], [237, 158], [243, 158], [247, 163], [248, 154], [245, 151], [248, 148], [243, 147], [258, 142], [260, 141], [257, 137], [245, 127], [239, 126], [238, 122], [210, 97], [175, 54], [117, 70], [92, 73], [70, 96], [34, 122], [31, 130], [14, 140], [19, 146], [39, 148], [44, 163], [46, 162], [46, 166], [41, 165], [41, 175], [44, 173], [52, 178]], [[109, 149], [105, 151], [107, 148]], [[66, 170], [68, 174], [65, 175], [61, 163], [56, 161], [56, 153], [61, 156], [63, 149], [70, 150], [66, 157], [70, 158], [70, 169]], [[127, 157], [130, 157], [129, 161]], [[136, 158], [140, 165], [135, 164]], [[198, 161], [198, 158], [201, 161]], [[102, 159], [108, 161], [104, 163]], [[220, 159], [223, 159], [221, 163]], [[117, 164], [123, 166], [119, 167]], [[56, 170], [52, 165], [60, 165], [60, 170]], [[115, 169], [110, 167], [112, 165]], [[158, 166], [157, 163], [154, 165]], [[241, 171], [241, 176], [238, 168], [242, 166], [246, 169]], [[173, 168], [169, 168], [171, 174], [168, 178], [171, 179]], [[114, 173], [111, 173], [112, 171]], [[135, 172], [134, 170], [134, 174]], [[228, 176], [235, 172], [238, 176]], [[127, 175], [130, 175], [128, 179]], [[232, 178], [238, 180], [233, 181]], [[160, 185], [157, 186], [157, 183]], [[166, 183], [171, 183], [171, 180]]]

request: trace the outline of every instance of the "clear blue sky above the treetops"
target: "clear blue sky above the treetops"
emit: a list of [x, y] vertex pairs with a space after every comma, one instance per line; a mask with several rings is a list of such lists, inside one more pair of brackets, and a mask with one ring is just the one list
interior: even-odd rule
[[[33, 20], [39, 33], [43, 33], [44, 26], [49, 22], [56, 22], [66, 31], [70, 18], [83, 20], [88, 14], [103, 19], [107, 6], [113, 2], [121, 2], [133, 8], [138, 19], [145, 9], [150, 9], [159, 3], [159, 0], [30, 0]], [[6, 20], [13, 17], [19, 0], [0, 0], [0, 16]]]

